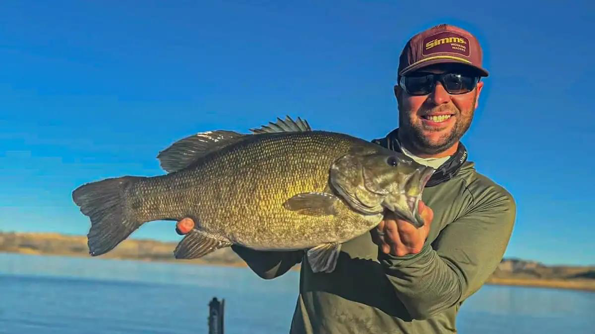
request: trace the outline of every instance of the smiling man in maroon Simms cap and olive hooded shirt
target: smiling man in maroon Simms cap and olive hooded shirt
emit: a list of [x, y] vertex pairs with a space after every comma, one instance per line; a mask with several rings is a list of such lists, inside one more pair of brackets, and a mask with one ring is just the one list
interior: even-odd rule
[[[374, 142], [437, 168], [420, 205], [427, 224], [416, 229], [389, 213], [342, 245], [334, 272], [313, 273], [302, 261], [292, 333], [456, 332], [461, 303], [502, 259], [515, 219], [511, 195], [466, 162], [459, 142], [488, 75], [481, 58], [471, 33], [446, 24], [406, 44], [394, 86], [400, 127]], [[265, 279], [303, 258], [233, 250]]]

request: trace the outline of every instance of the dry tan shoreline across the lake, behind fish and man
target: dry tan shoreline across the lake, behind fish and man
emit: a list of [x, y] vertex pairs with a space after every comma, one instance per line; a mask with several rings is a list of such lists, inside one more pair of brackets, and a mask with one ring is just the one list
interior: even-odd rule
[[[39, 256], [69, 256], [91, 259], [84, 236], [48, 233], [0, 232], [0, 253]], [[208, 264], [212, 266], [248, 266], [231, 248], [223, 248], [201, 259], [178, 260], [173, 257], [176, 242], [125, 240], [99, 259]], [[299, 266], [292, 270], [299, 270]], [[563, 276], [560, 273], [564, 273]], [[532, 261], [503, 260], [486, 285], [527, 286], [595, 292], [595, 267], [543, 266]], [[534, 277], [538, 275], [538, 278]], [[533, 276], [533, 277], [531, 277]]]

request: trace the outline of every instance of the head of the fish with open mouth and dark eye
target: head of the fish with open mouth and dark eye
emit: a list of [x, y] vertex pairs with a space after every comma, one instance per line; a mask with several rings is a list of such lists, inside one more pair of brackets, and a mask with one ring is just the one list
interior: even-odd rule
[[388, 209], [419, 228], [424, 225], [419, 201], [433, 173], [402, 153], [383, 149], [336, 160], [330, 182], [353, 209], [368, 214]]

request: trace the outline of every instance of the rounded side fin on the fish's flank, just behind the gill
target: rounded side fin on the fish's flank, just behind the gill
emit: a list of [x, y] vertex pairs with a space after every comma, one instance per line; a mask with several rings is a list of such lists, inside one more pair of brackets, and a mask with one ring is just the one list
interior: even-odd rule
[[301, 193], [283, 203], [287, 210], [301, 215], [323, 216], [335, 215], [334, 203], [339, 198], [328, 193]]

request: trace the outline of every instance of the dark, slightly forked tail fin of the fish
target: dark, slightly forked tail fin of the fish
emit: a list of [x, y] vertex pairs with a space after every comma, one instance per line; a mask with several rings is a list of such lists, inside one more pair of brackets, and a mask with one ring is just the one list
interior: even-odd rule
[[74, 203], [91, 220], [87, 244], [92, 256], [112, 250], [143, 223], [127, 217], [123, 198], [123, 190], [127, 185], [140, 178], [104, 179], [82, 185], [73, 191]]

